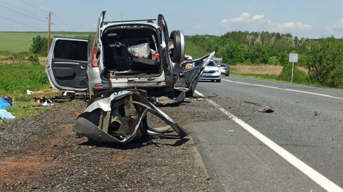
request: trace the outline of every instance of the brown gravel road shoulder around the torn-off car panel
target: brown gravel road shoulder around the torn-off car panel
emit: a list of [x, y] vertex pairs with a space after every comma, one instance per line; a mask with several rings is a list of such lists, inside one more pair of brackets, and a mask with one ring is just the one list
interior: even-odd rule
[[[186, 100], [160, 109], [187, 129], [218, 116], [209, 105]], [[0, 125], [0, 191], [212, 191], [191, 136], [95, 143], [72, 131], [74, 112], [85, 107], [80, 101], [57, 104]]]

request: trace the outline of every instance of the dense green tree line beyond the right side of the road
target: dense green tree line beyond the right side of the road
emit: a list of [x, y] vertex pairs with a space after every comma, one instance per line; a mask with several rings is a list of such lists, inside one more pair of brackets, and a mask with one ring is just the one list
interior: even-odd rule
[[[215, 51], [223, 63], [286, 66], [289, 53], [298, 54], [297, 65], [308, 70], [308, 81], [343, 87], [343, 38], [297, 38], [290, 33], [232, 31], [222, 36], [186, 36], [204, 51]], [[289, 68], [287, 66], [287, 68]]]

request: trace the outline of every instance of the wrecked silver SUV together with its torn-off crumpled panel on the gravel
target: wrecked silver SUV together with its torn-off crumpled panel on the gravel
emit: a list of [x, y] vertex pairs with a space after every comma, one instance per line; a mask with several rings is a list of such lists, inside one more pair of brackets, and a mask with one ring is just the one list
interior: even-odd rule
[[[145, 135], [185, 137], [187, 131], [155, 105], [178, 105], [185, 96], [193, 96], [214, 52], [186, 69], [193, 61], [184, 61], [183, 33], [169, 34], [163, 15], [157, 21], [104, 21], [105, 13], [99, 17], [93, 46], [89, 40], [56, 37], [49, 50], [46, 72], [51, 87], [88, 90], [91, 96], [73, 130], [110, 143], [128, 143]], [[148, 116], [169, 128], [156, 129]]]

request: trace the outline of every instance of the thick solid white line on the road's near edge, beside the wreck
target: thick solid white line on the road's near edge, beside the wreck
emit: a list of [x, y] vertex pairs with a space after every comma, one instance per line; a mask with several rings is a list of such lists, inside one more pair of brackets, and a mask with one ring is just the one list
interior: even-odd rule
[[[196, 91], [196, 94], [198, 94], [199, 96], [204, 96], [198, 91]], [[213, 100], [210, 100], [209, 98], [206, 98], [206, 100], [210, 102], [214, 107], [222, 111], [222, 113], [227, 115], [230, 119], [232, 119], [241, 127], [243, 127], [246, 131], [248, 131], [257, 139], [265, 143], [265, 145], [271, 148], [274, 152], [282, 156], [283, 159], [294, 165], [294, 167], [296, 167], [309, 178], [314, 180], [314, 182], [319, 184], [320, 187], [324, 188], [327, 191], [343, 191], [343, 189], [340, 188], [337, 184], [322, 176], [322, 174], [318, 173], [315, 169], [309, 167], [309, 165], [306, 165], [303, 161], [300, 161], [300, 159], [296, 158], [296, 156], [294, 156], [293, 154], [287, 152], [287, 150], [281, 148], [281, 146], [278, 146], [276, 143], [274, 143], [274, 141], [270, 140], [268, 137], [265, 137], [264, 135], [259, 133], [259, 131], [257, 131], [255, 128], [252, 128], [252, 126], [246, 124], [246, 122], [237, 118], [235, 115], [233, 115], [233, 113], [226, 111], [223, 107], [215, 103]]]

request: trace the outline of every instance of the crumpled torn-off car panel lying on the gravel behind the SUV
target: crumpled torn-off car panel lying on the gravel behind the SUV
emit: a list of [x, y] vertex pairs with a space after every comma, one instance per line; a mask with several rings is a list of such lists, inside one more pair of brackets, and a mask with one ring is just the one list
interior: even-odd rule
[[[154, 121], [150, 122], [150, 118]], [[165, 126], [154, 126], [156, 122], [164, 122]], [[78, 116], [73, 131], [76, 135], [107, 143], [130, 143], [148, 135], [169, 138], [188, 135], [138, 90], [115, 92], [91, 103]]]

